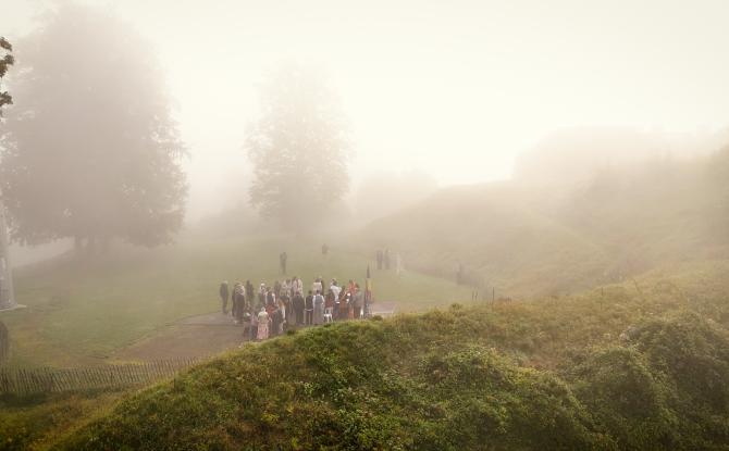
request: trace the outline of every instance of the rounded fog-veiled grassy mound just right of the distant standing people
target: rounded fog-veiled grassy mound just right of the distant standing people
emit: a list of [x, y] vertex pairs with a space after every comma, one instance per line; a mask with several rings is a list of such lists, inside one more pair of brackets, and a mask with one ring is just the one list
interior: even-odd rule
[[609, 264], [603, 249], [531, 209], [510, 183], [444, 190], [375, 221], [356, 241], [452, 280], [460, 263], [469, 285], [511, 297], [584, 289]]

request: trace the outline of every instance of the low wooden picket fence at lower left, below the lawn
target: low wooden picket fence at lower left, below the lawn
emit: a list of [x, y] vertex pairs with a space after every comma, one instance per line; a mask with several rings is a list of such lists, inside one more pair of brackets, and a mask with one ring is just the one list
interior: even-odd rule
[[0, 367], [0, 394], [23, 396], [139, 386], [173, 376], [196, 362], [197, 359], [175, 359], [77, 368]]

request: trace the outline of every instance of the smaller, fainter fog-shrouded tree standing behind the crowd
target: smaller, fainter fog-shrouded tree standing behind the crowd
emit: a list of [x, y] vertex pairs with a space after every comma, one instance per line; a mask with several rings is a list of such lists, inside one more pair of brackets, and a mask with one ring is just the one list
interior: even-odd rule
[[261, 116], [248, 127], [251, 203], [288, 230], [316, 227], [349, 188], [349, 148], [338, 99], [321, 74], [282, 65], [261, 86]]

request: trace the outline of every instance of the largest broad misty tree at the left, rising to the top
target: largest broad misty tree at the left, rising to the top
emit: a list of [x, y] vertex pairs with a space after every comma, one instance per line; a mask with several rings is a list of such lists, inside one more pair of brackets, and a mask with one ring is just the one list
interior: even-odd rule
[[16, 239], [153, 246], [178, 229], [183, 147], [149, 49], [126, 24], [74, 3], [17, 42], [0, 166]]

